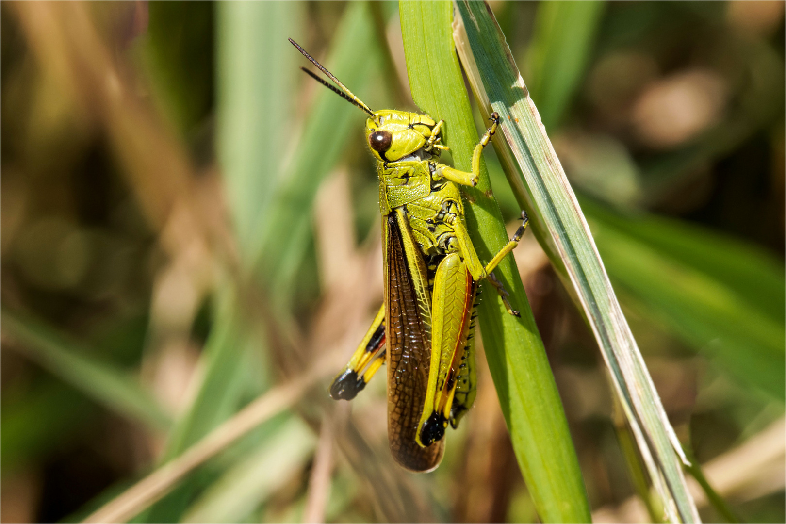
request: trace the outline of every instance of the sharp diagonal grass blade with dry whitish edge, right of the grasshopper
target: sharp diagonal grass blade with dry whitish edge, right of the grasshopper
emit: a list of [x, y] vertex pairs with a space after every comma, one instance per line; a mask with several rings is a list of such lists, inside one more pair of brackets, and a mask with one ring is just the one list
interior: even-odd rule
[[531, 211], [538, 240], [586, 315], [668, 519], [698, 521], [679, 442], [505, 37], [483, 2], [457, 8], [463, 20], [457, 49], [481, 113], [503, 118], [505, 141], [494, 148], [516, 199]]

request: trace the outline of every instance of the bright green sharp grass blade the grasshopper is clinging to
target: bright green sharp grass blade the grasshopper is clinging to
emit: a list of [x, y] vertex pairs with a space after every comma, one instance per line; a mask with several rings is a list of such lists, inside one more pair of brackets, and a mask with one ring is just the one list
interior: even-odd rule
[[[445, 119], [443, 141], [455, 167], [469, 170], [479, 137], [454, 50], [452, 5], [401, 2], [399, 13], [413, 100], [434, 118]], [[472, 242], [480, 258], [489, 260], [505, 245], [507, 234], [484, 163], [479, 184], [465, 197]], [[512, 256], [495, 273], [521, 311], [521, 318], [506, 313], [494, 288], [483, 285], [483, 346], [516, 458], [544, 522], [588, 522], [589, 504], [564, 410]]]

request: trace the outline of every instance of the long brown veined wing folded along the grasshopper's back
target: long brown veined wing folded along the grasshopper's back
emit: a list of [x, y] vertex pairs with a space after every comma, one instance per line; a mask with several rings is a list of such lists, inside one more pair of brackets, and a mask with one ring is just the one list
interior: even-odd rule
[[402, 215], [388, 214], [385, 225], [387, 438], [396, 462], [430, 471], [442, 460], [444, 441], [425, 448], [415, 442], [432, 352], [428, 277]]

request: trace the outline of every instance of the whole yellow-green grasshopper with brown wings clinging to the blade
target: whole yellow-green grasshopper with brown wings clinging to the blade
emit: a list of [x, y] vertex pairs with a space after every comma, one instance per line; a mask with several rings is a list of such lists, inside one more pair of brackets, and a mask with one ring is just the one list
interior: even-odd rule
[[472, 155], [472, 172], [438, 163], [439, 122], [429, 115], [373, 112], [330, 71], [289, 39], [340, 89], [306, 71], [369, 114], [365, 137], [380, 178], [384, 303], [358, 349], [330, 387], [332, 398], [351, 400], [387, 363], [387, 437], [396, 462], [410, 471], [432, 471], [444, 453], [445, 430], [457, 427], [476, 395], [472, 342], [478, 281], [508, 295], [491, 271], [518, 244], [527, 214], [512, 240], [486, 265], [469, 239], [457, 185], [478, 183], [480, 155], [499, 124], [491, 126]]

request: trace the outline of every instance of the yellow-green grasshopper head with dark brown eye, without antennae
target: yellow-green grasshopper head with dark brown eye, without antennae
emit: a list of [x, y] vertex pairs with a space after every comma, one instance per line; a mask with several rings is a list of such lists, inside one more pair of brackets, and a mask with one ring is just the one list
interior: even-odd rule
[[435, 125], [428, 115], [386, 109], [365, 121], [365, 139], [376, 159], [395, 162], [422, 148]]

